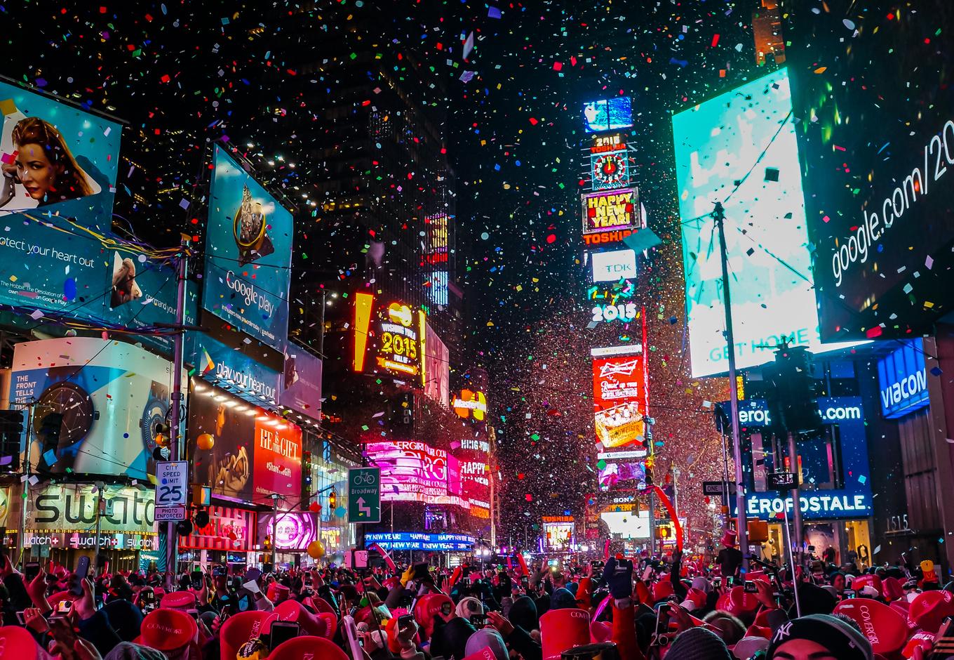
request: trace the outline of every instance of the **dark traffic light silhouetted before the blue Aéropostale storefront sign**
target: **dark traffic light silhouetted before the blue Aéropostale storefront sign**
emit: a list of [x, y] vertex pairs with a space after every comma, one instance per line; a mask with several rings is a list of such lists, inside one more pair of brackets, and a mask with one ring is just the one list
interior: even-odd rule
[[779, 436], [818, 431], [819, 381], [812, 377], [812, 353], [803, 346], [782, 344], [775, 364], [765, 371], [772, 430]]

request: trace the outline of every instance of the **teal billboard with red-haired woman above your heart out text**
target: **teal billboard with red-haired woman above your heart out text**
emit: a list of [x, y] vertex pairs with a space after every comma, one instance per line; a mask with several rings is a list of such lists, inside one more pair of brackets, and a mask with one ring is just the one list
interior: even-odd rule
[[0, 114], [0, 303], [96, 317], [121, 126], [5, 82]]

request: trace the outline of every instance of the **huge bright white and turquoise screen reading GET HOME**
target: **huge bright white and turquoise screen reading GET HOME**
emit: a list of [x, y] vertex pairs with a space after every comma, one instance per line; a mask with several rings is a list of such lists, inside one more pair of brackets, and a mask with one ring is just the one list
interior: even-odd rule
[[780, 69], [673, 117], [694, 377], [728, 371], [714, 201], [725, 207], [736, 366], [772, 361], [782, 335], [816, 353], [850, 346], [821, 345], [791, 112]]

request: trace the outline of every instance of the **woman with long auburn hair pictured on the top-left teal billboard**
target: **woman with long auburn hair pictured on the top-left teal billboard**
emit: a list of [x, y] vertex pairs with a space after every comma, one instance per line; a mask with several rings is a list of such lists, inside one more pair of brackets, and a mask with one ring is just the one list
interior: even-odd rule
[[[5, 132], [11, 117], [15, 115], [7, 117]], [[60, 132], [44, 119], [19, 119], [10, 133], [10, 142], [15, 157], [2, 163], [0, 208], [14, 210], [44, 206], [95, 195], [100, 191], [99, 184], [73, 158]], [[21, 203], [26, 200], [14, 200], [17, 184], [23, 186], [30, 198], [29, 206]]]

